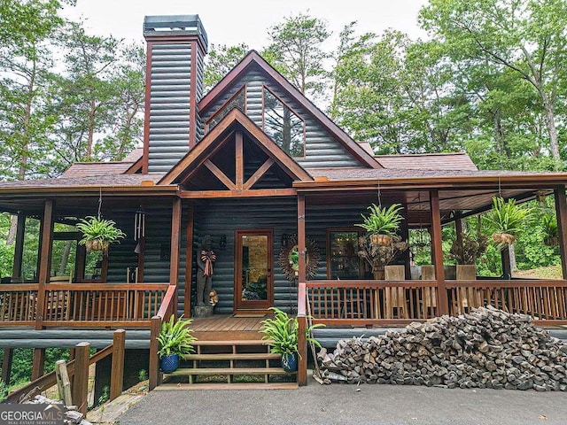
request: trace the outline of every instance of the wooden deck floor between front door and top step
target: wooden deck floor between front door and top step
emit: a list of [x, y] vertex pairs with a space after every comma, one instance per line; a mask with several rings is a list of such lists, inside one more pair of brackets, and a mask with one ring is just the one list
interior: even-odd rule
[[193, 319], [191, 328], [194, 335], [202, 341], [227, 341], [237, 339], [261, 339], [259, 333], [260, 317], [234, 317], [214, 315], [211, 317]]

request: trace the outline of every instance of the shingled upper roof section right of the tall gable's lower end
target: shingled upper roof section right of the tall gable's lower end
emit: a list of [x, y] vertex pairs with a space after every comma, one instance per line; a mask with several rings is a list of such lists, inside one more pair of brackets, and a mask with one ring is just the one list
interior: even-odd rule
[[384, 168], [390, 169], [478, 170], [464, 152], [377, 155], [375, 158]]

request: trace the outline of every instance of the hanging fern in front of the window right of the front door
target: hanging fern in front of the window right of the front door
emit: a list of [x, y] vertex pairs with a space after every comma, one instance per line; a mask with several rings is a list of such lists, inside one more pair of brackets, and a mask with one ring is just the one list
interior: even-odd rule
[[401, 220], [404, 218], [400, 215], [402, 206], [400, 204], [392, 204], [388, 208], [376, 204], [368, 207], [370, 213], [368, 217], [361, 214], [364, 222], [355, 224], [359, 228], [364, 228], [370, 236], [370, 243], [374, 245], [389, 245], [392, 243], [392, 236], [400, 228]]

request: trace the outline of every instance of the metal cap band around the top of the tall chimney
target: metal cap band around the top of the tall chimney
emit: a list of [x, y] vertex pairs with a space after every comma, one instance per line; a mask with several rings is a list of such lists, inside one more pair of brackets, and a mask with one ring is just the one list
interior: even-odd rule
[[198, 15], [152, 15], [144, 17], [144, 37], [198, 35], [208, 45], [206, 31]]

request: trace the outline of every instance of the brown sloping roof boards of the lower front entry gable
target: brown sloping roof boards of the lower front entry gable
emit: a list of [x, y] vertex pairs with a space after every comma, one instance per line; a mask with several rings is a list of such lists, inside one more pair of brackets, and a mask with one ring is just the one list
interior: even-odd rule
[[252, 122], [243, 112], [237, 108], [231, 110], [206, 136], [191, 149], [169, 172], [159, 180], [158, 184], [173, 184], [183, 182], [198, 166], [201, 166], [207, 158], [210, 158], [221, 145], [226, 142], [233, 128], [242, 128], [255, 140], [260, 149], [269, 158], [273, 158], [278, 166], [283, 168], [292, 179], [301, 182], [313, 181], [313, 177], [307, 173], [297, 162], [272, 141], [256, 124]]

